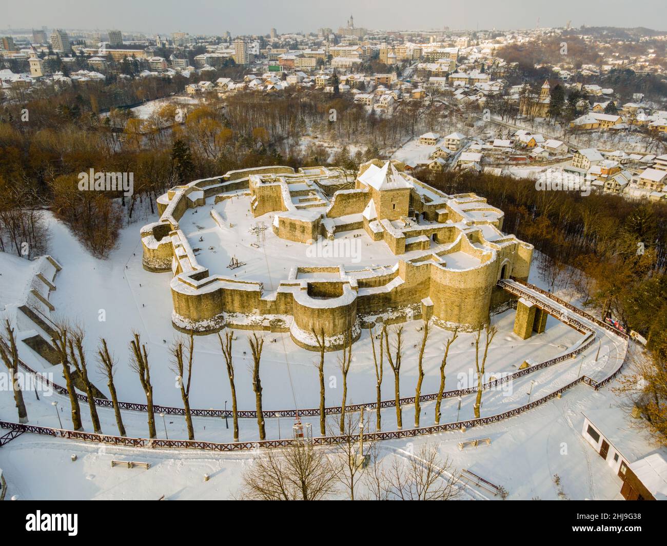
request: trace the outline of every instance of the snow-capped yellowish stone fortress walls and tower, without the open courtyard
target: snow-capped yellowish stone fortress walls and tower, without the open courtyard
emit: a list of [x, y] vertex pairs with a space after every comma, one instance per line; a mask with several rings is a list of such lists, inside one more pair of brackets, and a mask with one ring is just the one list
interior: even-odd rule
[[[382, 322], [431, 318], [444, 328], [475, 330], [504, 298], [498, 279], [528, 278], [532, 245], [503, 234], [502, 211], [484, 198], [448, 196], [398, 162], [373, 160], [328, 200], [326, 184], [341, 177], [324, 167], [294, 172], [271, 166], [196, 180], [160, 196], [159, 221], [141, 229], [143, 266], [173, 273], [175, 328], [201, 334], [225, 326], [289, 331], [295, 343], [311, 350], [317, 350], [313, 332], [323, 332], [327, 349], [337, 350], [348, 331], [356, 339], [362, 328]], [[396, 264], [295, 266], [270, 293], [260, 282], [209, 272], [197, 262], [179, 220], [189, 208], [207, 198], [219, 202], [231, 191], [249, 196], [255, 217], [273, 213], [271, 228], [280, 238], [308, 244], [363, 229], [388, 245]], [[220, 224], [216, 215], [211, 210]], [[299, 272], [327, 275], [299, 279]]]

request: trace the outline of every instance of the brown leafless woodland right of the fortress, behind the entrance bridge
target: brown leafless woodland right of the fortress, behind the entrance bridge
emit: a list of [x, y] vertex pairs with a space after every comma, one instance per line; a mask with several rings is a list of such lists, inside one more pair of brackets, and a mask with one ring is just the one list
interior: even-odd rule
[[[610, 194], [544, 192], [531, 180], [446, 172], [430, 184], [476, 192], [504, 211], [504, 232], [530, 241], [550, 290], [583, 297], [600, 318], [618, 320], [648, 341], [648, 362], [624, 383], [642, 423], [667, 441], [667, 207]], [[636, 380], [641, 376], [642, 380]]]

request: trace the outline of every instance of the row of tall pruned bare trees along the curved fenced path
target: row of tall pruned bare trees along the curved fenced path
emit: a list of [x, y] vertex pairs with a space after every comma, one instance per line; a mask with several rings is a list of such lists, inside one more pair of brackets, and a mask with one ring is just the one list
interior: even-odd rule
[[[414, 396], [414, 408], [415, 408], [415, 420], [414, 426], [416, 428], [420, 427], [420, 417], [421, 417], [421, 404], [420, 397], [422, 395], [422, 384], [424, 381], [424, 351], [426, 350], [426, 345], [428, 342], [428, 336], [430, 333], [430, 321], [424, 321], [422, 328], [422, 341], [418, 353], [418, 379], [415, 388]], [[398, 326], [393, 329], [393, 340], [390, 336], [390, 328], [386, 324], [382, 326], [382, 329], [376, 336], [372, 327], [368, 330], [372, 346], [372, 354], [374, 361], [374, 370], [376, 374], [376, 430], [380, 431], [382, 429], [382, 411], [381, 404], [382, 402], [382, 379], [384, 376], [384, 357], [389, 363], [390, 368], [394, 374], [394, 396], [395, 396], [395, 409], [396, 409], [396, 423], [398, 429], [402, 429], [402, 405], [400, 402], [400, 372], [402, 366], [402, 360], [404, 356], [404, 339], [403, 339], [403, 326]], [[486, 360], [488, 357], [488, 348], [492, 343], [494, 336], [496, 335], [497, 328], [490, 324], [477, 330], [474, 336], [474, 345], [475, 345], [475, 370], [477, 375], [477, 384], [478, 392], [476, 403], [474, 404], [475, 417], [480, 417], [480, 408], [482, 404], [482, 382], [485, 374]], [[319, 346], [319, 360], [316, 363], [317, 372], [319, 376], [319, 425], [320, 425], [320, 434], [322, 436], [332, 435], [331, 430], [328, 430], [327, 420], [325, 415], [325, 384], [324, 384], [324, 362], [325, 362], [325, 335], [323, 330], [319, 334], [315, 334], [315, 339]], [[87, 364], [87, 359], [85, 356], [84, 349], [84, 336], [85, 333], [83, 328], [78, 325], [71, 325], [65, 321], [61, 321], [55, 324], [55, 335], [52, 338], [53, 346], [58, 355], [59, 361], [63, 368], [63, 377], [67, 385], [67, 390], [69, 392], [69, 402], [71, 406], [71, 419], [73, 429], [75, 431], [82, 431], [83, 424], [81, 421], [81, 408], [79, 406], [79, 398], [77, 398], [76, 388], [84, 390], [87, 394], [87, 404], [89, 406], [89, 413], [91, 417], [91, 422], [93, 424], [93, 430], [95, 433], [102, 433], [101, 422], [99, 415], [97, 413], [97, 406], [95, 404], [95, 397], [99, 396], [99, 392], [91, 382], [89, 378], [89, 368]], [[448, 338], [444, 346], [444, 353], [442, 361], [440, 362], [440, 386], [438, 388], [438, 395], [436, 398], [435, 406], [435, 422], [436, 424], [440, 423], [440, 408], [442, 404], [442, 398], [444, 396], [445, 389], [445, 369], [447, 365], [447, 358], [450, 351], [450, 347], [454, 341], [458, 338], [458, 330], [454, 330], [452, 337]], [[225, 331], [224, 336], [218, 334], [218, 340], [220, 343], [220, 348], [225, 362], [225, 369], [227, 371], [227, 378], [229, 380], [229, 388], [231, 390], [231, 409], [232, 409], [232, 421], [233, 421], [233, 439], [235, 442], [239, 441], [239, 422], [238, 422], [238, 408], [237, 408], [237, 393], [235, 386], [235, 366], [233, 362], [233, 340], [235, 340], [234, 332], [231, 330]], [[380, 341], [379, 350], [376, 350], [376, 340]], [[333, 433], [333, 435], [344, 435], [346, 431], [346, 423], [348, 423], [348, 418], [350, 414], [346, 411], [348, 406], [348, 374], [352, 366], [352, 343], [353, 343], [353, 334], [352, 330], [348, 330], [344, 333], [343, 336], [343, 348], [341, 354], [338, 358], [338, 366], [342, 374], [342, 404], [340, 411], [340, 418], [338, 419], [338, 432]], [[260, 364], [261, 364], [261, 354], [263, 350], [264, 340], [261, 336], [258, 336], [253, 332], [251, 336], [248, 336], [248, 344], [251, 350], [252, 364], [250, 367], [251, 376], [252, 376], [252, 388], [255, 393], [255, 408], [257, 411], [257, 428], [259, 429], [259, 439], [266, 439], [265, 431], [265, 421], [264, 421], [264, 412], [262, 408], [262, 386], [261, 386], [261, 377], [260, 377]], [[146, 397], [147, 404], [147, 424], [148, 424], [148, 433], [150, 438], [157, 437], [156, 427], [155, 427], [155, 409], [153, 402], [153, 385], [151, 384], [151, 367], [149, 364], [148, 352], [144, 343], [141, 342], [139, 333], [133, 332], [133, 338], [129, 343], [130, 348], [130, 358], [129, 366], [137, 374], [139, 382], [141, 383], [141, 389], [143, 390]], [[482, 355], [480, 356], [480, 350], [483, 348]], [[192, 384], [193, 376], [193, 362], [194, 362], [194, 349], [195, 341], [193, 332], [189, 332], [187, 340], [183, 338], [177, 338], [170, 346], [169, 352], [172, 356], [171, 359], [171, 370], [175, 373], [176, 386], [181, 392], [181, 398], [183, 400], [183, 408], [185, 413], [185, 423], [187, 426], [188, 439], [195, 439], [195, 431], [192, 421], [192, 413], [190, 407], [190, 390]], [[5, 362], [5, 365], [13, 376], [15, 376], [18, 370], [18, 352], [16, 348], [16, 336], [14, 334], [13, 328], [9, 324], [9, 320], [5, 323], [5, 334], [0, 337], [0, 356]], [[113, 410], [115, 413], [115, 419], [117, 423], [118, 432], [121, 436], [125, 436], [125, 427], [123, 425], [123, 419], [121, 415], [121, 409], [119, 407], [119, 402], [117, 398], [117, 391], [114, 384], [114, 374], [116, 370], [117, 360], [109, 352], [107, 342], [104, 338], [101, 338], [99, 341], [99, 346], [97, 348], [97, 362], [98, 362], [98, 371], [106, 378], [107, 387], [111, 394], [111, 402]], [[21, 394], [20, 388], [16, 385], [15, 382], [15, 400], [16, 405], [19, 410], [19, 421], [27, 421], [27, 413], [25, 411], [25, 404], [23, 403], [23, 397]]]

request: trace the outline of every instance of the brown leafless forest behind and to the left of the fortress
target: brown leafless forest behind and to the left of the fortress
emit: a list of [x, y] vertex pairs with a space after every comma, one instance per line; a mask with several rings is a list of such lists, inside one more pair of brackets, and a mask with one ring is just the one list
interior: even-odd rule
[[[25, 248], [31, 256], [44, 252], [41, 210], [50, 209], [95, 256], [104, 257], [119, 228], [133, 222], [137, 210], [154, 214], [157, 196], [175, 184], [239, 168], [298, 168], [330, 160], [356, 172], [380, 149], [398, 146], [420, 129], [410, 105], [383, 117], [352, 97], [304, 89], [245, 91], [225, 99], [210, 93], [195, 106], [165, 103], [147, 119], [117, 107], [169, 96], [184, 83], [147, 78], [41, 88], [0, 107], [0, 250], [24, 256]], [[309, 135], [315, 136], [304, 144]], [[366, 153], [344, 149], [331, 157], [317, 135], [365, 144]], [[81, 191], [77, 177], [91, 169], [131, 173], [133, 194]]]

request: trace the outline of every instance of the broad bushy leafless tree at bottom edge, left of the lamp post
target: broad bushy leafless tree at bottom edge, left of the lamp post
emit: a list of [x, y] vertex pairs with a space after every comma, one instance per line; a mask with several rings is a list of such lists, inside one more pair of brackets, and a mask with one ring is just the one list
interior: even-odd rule
[[337, 480], [324, 449], [304, 441], [263, 451], [242, 479], [242, 498], [261, 501], [318, 501], [336, 491]]

